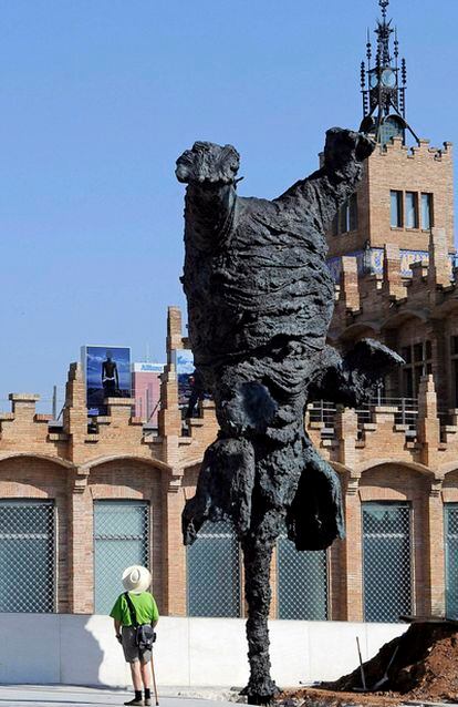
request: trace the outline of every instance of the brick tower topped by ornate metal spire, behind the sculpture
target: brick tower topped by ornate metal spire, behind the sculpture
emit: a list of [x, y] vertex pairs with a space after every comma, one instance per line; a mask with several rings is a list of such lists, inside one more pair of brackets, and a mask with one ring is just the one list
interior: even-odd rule
[[447, 305], [456, 298], [451, 144], [431, 147], [407, 122], [406, 63], [388, 0], [379, 6], [374, 53], [367, 38], [361, 66], [361, 130], [377, 146], [327, 234], [337, 293], [330, 336], [341, 346], [372, 336], [406, 358], [384, 395], [416, 398], [421, 376], [433, 373], [439, 400], [455, 408], [455, 315]]

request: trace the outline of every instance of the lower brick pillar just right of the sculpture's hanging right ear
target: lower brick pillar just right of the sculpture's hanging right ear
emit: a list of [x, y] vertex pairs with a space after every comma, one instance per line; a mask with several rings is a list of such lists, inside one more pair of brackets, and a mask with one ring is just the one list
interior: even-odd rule
[[363, 551], [358, 479], [350, 479], [345, 493], [346, 621], [363, 621]]

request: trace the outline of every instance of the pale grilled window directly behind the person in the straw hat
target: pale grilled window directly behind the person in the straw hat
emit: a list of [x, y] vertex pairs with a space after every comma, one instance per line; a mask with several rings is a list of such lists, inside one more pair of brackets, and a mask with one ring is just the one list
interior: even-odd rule
[[149, 566], [148, 504], [144, 501], [94, 502], [94, 611], [110, 614], [124, 591], [123, 572]]

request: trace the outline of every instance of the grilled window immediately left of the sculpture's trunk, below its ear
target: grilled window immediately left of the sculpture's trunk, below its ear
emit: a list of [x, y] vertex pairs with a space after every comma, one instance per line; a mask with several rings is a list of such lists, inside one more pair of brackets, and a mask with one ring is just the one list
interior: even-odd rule
[[207, 521], [187, 550], [189, 616], [240, 616], [240, 551], [229, 521]]

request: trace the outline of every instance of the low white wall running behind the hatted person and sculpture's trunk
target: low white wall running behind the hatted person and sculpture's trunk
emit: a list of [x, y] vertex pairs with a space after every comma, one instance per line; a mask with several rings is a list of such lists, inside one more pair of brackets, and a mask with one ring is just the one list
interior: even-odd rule
[[[287, 687], [337, 678], [406, 631], [405, 624], [270, 622], [272, 677]], [[163, 617], [154, 662], [158, 685], [242, 687], [248, 680], [244, 621]], [[0, 614], [0, 683], [131, 684], [107, 616]]]

